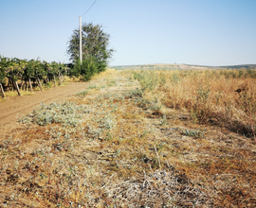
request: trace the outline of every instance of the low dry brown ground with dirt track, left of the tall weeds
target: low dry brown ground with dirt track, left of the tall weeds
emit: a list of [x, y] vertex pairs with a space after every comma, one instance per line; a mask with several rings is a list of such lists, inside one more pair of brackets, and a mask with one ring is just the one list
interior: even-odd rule
[[[167, 88], [141, 96], [131, 77], [109, 70], [0, 103], [0, 207], [255, 207], [254, 139], [195, 122]], [[63, 107], [81, 123], [35, 124]]]

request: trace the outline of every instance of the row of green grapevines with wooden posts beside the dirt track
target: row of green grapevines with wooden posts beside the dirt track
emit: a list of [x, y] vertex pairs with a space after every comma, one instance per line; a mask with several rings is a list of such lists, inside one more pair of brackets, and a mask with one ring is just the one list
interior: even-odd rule
[[[5, 92], [9, 90], [29, 89], [33, 92], [33, 87], [37, 85], [43, 91], [42, 83], [48, 84], [53, 81], [56, 86], [58, 79], [60, 84], [64, 81], [64, 75], [69, 74], [69, 67], [64, 63], [56, 61], [46, 62], [39, 60], [19, 60], [9, 59], [0, 56], [0, 93], [5, 97]], [[33, 84], [32, 84], [33, 83]]]

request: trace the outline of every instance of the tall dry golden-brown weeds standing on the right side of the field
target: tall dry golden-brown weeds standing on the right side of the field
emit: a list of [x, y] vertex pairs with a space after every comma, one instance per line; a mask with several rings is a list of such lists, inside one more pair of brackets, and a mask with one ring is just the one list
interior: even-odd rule
[[166, 107], [190, 112], [193, 122], [253, 136], [256, 70], [137, 70], [132, 73], [142, 91], [160, 94]]

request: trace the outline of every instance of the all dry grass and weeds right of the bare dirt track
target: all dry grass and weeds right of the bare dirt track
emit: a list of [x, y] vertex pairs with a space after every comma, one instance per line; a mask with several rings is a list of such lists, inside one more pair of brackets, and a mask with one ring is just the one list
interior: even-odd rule
[[0, 140], [1, 206], [255, 207], [255, 78], [153, 73], [106, 71], [22, 118]]

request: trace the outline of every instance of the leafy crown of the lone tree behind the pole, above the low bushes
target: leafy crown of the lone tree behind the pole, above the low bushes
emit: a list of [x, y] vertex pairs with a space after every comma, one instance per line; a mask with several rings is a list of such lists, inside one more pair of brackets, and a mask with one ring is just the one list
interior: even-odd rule
[[[104, 71], [107, 62], [112, 58], [114, 49], [110, 48], [110, 35], [103, 32], [103, 26], [82, 24], [82, 60], [94, 60], [98, 71]], [[76, 63], [79, 60], [79, 28], [73, 33], [67, 42], [67, 54], [70, 61]]]

